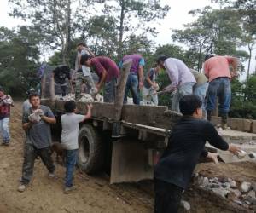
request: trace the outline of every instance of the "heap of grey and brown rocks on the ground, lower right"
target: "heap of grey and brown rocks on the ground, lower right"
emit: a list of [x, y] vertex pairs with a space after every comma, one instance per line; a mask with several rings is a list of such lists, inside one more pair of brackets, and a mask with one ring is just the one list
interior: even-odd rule
[[236, 204], [249, 208], [256, 207], [256, 182], [243, 181], [240, 184], [228, 177], [195, 176], [195, 184], [212, 191], [219, 196], [230, 199]]

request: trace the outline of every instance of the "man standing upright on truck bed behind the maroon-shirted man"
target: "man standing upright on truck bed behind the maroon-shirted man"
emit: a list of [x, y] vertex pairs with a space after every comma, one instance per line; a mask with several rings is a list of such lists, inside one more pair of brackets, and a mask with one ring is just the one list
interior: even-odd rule
[[75, 100], [78, 101], [81, 98], [82, 85], [85, 83], [86, 87], [90, 89], [90, 95], [95, 96], [98, 92], [95, 83], [90, 73], [90, 67], [81, 65], [82, 55], [95, 55], [88, 49], [85, 43], [78, 43], [77, 45], [78, 55], [76, 59], [76, 80], [75, 80]]

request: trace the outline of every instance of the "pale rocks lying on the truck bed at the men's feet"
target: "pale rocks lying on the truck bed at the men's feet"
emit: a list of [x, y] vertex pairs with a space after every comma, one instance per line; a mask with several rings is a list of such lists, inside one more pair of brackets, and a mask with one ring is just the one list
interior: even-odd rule
[[[97, 94], [95, 98], [93, 98], [90, 94], [87, 93], [82, 93], [81, 94], [81, 99], [79, 101], [82, 102], [103, 102], [103, 96], [100, 94]], [[67, 94], [65, 97], [62, 97], [62, 95], [55, 95], [55, 100], [63, 100], [63, 101], [72, 101], [75, 100], [75, 95], [74, 94]]]

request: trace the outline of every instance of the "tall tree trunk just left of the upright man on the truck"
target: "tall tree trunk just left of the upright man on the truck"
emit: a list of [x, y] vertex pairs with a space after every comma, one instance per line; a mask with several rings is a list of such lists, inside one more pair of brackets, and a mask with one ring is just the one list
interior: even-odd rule
[[69, 45], [70, 45], [70, 14], [71, 14], [70, 4], [71, 4], [71, 0], [67, 0], [66, 29], [65, 29], [66, 39], [64, 43], [63, 52], [62, 52], [62, 63], [65, 65], [69, 65], [67, 60], [67, 54], [68, 54]]

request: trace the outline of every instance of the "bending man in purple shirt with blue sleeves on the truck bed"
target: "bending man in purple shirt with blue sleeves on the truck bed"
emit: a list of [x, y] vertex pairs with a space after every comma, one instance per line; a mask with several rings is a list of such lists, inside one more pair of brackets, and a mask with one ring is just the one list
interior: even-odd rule
[[119, 63], [119, 68], [122, 68], [126, 60], [132, 60], [132, 63], [130, 73], [127, 78], [124, 103], [127, 103], [128, 93], [131, 91], [133, 103], [139, 105], [139, 89], [143, 89], [143, 66], [145, 66], [145, 60], [142, 55], [125, 55]]

